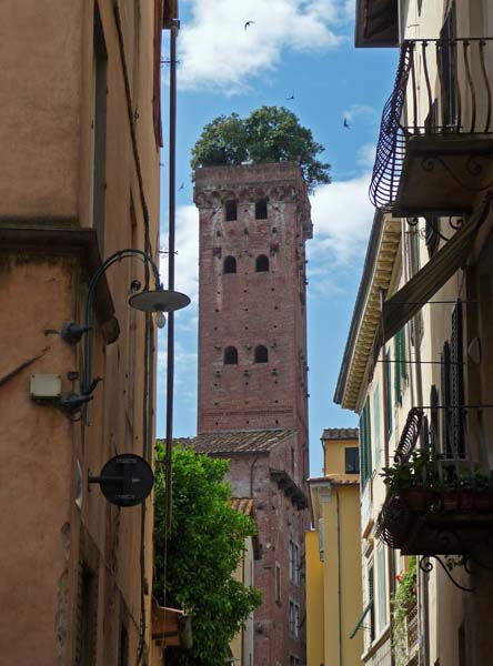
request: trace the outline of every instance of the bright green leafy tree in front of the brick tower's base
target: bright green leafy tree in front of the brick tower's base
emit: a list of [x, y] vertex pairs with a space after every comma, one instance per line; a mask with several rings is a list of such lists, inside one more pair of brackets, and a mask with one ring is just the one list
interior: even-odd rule
[[[161, 446], [158, 461], [163, 461]], [[231, 576], [241, 562], [254, 523], [230, 506], [231, 490], [223, 481], [228, 462], [173, 451], [172, 522], [169, 537], [167, 605], [192, 616], [193, 648], [167, 656], [172, 666], [223, 666], [228, 646], [261, 594]], [[154, 485], [154, 595], [164, 596], [164, 477], [158, 465]]]

